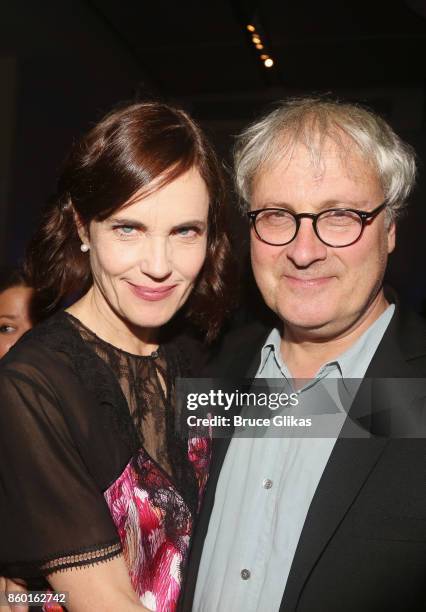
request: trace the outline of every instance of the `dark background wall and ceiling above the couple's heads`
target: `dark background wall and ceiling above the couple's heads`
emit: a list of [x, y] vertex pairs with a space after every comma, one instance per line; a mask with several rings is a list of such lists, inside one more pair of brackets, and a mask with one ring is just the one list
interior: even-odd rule
[[15, 0], [3, 3], [0, 34], [1, 263], [22, 257], [73, 139], [114, 104], [147, 96], [180, 104], [229, 160], [233, 135], [274, 100], [330, 92], [366, 103], [416, 148], [418, 185], [389, 279], [421, 310], [424, 0]]

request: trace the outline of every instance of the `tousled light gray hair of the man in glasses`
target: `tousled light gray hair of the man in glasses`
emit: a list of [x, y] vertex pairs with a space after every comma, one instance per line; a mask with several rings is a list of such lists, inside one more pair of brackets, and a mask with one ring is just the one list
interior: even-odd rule
[[321, 164], [325, 139], [332, 139], [342, 156], [353, 148], [377, 172], [388, 205], [388, 220], [404, 208], [416, 175], [414, 151], [379, 116], [356, 104], [328, 98], [294, 98], [280, 102], [238, 137], [235, 180], [241, 206], [250, 203], [259, 172], [278, 163], [297, 144], [306, 146], [314, 164]]

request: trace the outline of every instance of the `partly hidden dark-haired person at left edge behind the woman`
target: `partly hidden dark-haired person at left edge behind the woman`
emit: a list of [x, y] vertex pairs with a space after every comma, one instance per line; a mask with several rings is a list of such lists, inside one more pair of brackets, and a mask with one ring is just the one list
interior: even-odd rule
[[19, 268], [0, 268], [0, 358], [37, 322], [34, 289]]

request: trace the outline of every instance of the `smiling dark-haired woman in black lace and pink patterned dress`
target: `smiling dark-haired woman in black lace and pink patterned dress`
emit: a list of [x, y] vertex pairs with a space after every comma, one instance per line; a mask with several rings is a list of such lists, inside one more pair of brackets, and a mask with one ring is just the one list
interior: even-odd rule
[[184, 306], [217, 333], [224, 214], [199, 128], [137, 104], [76, 145], [30, 247], [51, 307], [84, 294], [0, 368], [0, 574], [47, 577], [71, 611], [175, 609], [209, 444], [175, 431], [174, 381], [197, 357], [167, 323]]

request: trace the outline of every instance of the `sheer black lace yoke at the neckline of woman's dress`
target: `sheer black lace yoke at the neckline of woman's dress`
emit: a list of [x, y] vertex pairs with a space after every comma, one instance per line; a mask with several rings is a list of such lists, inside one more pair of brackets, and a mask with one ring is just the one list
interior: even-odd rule
[[[107, 411], [105, 418], [109, 415], [129, 451], [135, 455], [143, 449], [195, 511], [198, 485], [188, 456], [188, 439], [176, 429], [181, 406], [176, 402], [175, 382], [191, 372], [180, 342], [164, 342], [158, 358], [132, 355], [98, 339], [63, 310], [34, 327], [27, 338], [65, 354], [82, 387]], [[137, 472], [146, 477], [143, 470]], [[163, 501], [158, 502], [160, 507], [167, 505]]]

